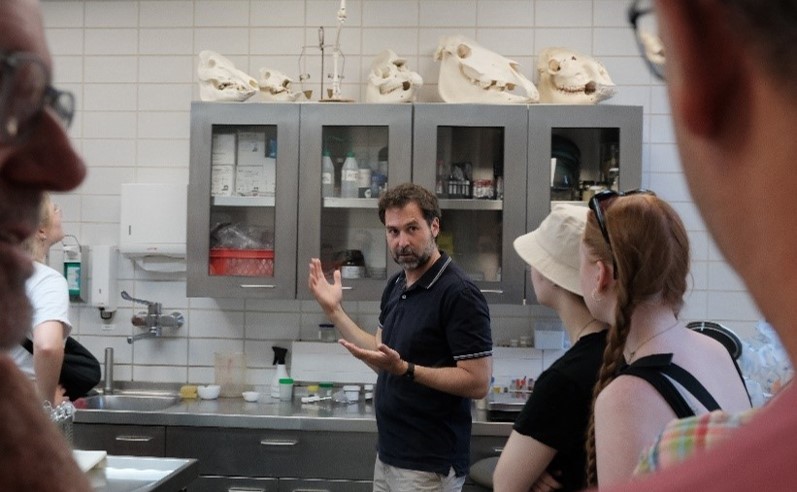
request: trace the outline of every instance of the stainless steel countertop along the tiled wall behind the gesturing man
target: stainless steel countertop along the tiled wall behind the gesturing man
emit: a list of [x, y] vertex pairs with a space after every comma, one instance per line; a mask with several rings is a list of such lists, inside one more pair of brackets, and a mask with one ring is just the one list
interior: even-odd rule
[[[76, 423], [230, 427], [249, 429], [376, 432], [373, 405], [368, 402], [339, 404], [330, 401], [301, 403], [295, 398], [283, 402], [261, 395], [257, 403], [243, 398], [217, 400], [184, 399], [153, 412], [78, 409]], [[487, 412], [473, 410], [474, 436], [508, 436], [509, 422], [489, 422]]]

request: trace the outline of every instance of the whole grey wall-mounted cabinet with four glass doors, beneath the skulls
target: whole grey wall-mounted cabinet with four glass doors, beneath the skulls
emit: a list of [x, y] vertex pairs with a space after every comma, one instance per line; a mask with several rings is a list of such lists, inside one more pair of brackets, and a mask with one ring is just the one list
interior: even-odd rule
[[531, 301], [512, 241], [552, 201], [638, 187], [641, 132], [626, 106], [194, 103], [188, 295], [309, 299], [318, 257], [347, 300], [379, 300], [398, 266], [378, 196], [414, 181], [488, 301]]

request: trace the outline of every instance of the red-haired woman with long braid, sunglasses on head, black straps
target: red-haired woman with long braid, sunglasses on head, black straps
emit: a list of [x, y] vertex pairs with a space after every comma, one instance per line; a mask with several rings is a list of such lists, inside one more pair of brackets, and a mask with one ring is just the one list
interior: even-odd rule
[[675, 210], [652, 192], [606, 191], [590, 200], [581, 288], [609, 325], [588, 440], [590, 483], [627, 481], [668, 422], [750, 408], [727, 349], [678, 319], [689, 241]]

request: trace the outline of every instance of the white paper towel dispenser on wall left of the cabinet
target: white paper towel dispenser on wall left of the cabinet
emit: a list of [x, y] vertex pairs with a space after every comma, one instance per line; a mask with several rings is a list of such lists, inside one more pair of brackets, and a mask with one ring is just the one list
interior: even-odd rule
[[119, 252], [185, 258], [187, 198], [185, 184], [123, 184]]

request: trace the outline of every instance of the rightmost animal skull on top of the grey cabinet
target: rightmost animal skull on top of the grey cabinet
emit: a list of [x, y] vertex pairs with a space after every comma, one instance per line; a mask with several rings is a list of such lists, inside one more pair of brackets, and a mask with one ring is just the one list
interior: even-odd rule
[[615, 93], [606, 67], [598, 60], [567, 48], [547, 48], [537, 59], [540, 101], [596, 104]]

